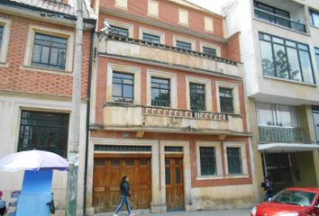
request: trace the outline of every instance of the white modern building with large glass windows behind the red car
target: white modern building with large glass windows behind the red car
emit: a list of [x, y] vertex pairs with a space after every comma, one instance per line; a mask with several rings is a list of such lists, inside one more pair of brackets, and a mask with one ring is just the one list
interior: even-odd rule
[[[242, 62], [258, 182], [319, 185], [319, 3], [223, 1]], [[260, 198], [263, 191], [260, 188]]]

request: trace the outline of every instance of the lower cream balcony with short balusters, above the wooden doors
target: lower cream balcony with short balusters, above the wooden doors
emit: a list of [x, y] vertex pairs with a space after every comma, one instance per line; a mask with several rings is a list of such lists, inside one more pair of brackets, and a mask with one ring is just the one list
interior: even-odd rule
[[243, 132], [242, 116], [228, 113], [107, 102], [104, 116], [105, 129], [112, 130], [211, 134]]

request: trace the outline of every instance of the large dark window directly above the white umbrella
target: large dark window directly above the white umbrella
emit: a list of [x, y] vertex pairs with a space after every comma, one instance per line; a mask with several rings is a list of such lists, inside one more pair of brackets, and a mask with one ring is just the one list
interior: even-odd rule
[[68, 113], [23, 111], [18, 151], [40, 149], [67, 157]]

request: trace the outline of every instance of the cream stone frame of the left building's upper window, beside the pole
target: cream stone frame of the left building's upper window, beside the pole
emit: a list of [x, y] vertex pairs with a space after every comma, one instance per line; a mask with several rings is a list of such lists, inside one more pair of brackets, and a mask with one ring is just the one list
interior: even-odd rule
[[[32, 66], [32, 54], [33, 54], [33, 46], [34, 46], [34, 38], [36, 33], [42, 33], [49, 36], [56, 36], [68, 39], [67, 45], [67, 56], [66, 56], [66, 67], [64, 70], [62, 69], [53, 69], [48, 67], [37, 67]], [[30, 25], [28, 31], [28, 38], [26, 43], [26, 49], [24, 54], [23, 67], [25, 68], [36, 68], [38, 71], [62, 71], [72, 73], [73, 66], [73, 55], [74, 55], [74, 33], [72, 31], [64, 31], [58, 29], [51, 29], [39, 25]]]

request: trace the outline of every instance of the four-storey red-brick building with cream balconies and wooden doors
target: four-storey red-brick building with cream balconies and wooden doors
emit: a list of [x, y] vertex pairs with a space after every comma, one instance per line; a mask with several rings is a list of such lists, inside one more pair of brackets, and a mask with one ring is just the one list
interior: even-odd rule
[[255, 201], [240, 34], [183, 0], [94, 1], [87, 214]]

